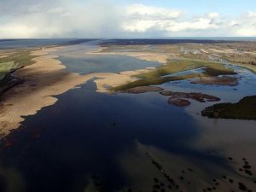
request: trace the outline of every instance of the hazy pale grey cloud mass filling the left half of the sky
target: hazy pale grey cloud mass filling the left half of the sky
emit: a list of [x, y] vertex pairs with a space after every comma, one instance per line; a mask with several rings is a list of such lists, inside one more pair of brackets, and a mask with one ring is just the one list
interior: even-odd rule
[[[71, 0], [58, 0], [58, 3], [25, 1], [31, 4], [26, 9], [21, 1], [16, 2], [15, 8], [20, 6], [17, 10], [10, 9], [12, 3], [7, 3], [5, 9], [1, 7], [15, 13], [4, 15], [0, 38], [108, 38], [117, 35], [119, 17], [116, 16], [119, 10], [110, 0], [103, 3], [94, 0], [84, 3]], [[2, 13], [0, 23], [1, 19]]]

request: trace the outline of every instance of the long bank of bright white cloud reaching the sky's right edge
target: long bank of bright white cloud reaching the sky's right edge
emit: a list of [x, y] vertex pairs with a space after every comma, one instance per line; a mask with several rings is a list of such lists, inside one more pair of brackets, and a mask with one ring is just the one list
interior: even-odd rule
[[248, 11], [237, 17], [211, 12], [187, 18], [182, 11], [134, 4], [126, 9], [121, 26], [125, 32], [156, 37], [256, 36], [256, 12]]

